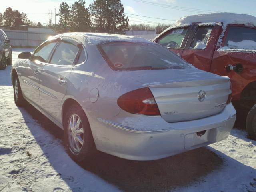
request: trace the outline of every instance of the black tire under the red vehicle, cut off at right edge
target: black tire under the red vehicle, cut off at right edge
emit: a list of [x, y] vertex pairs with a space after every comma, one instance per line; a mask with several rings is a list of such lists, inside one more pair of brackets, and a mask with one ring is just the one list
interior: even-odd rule
[[249, 138], [256, 140], [256, 105], [251, 108], [247, 115], [246, 130]]

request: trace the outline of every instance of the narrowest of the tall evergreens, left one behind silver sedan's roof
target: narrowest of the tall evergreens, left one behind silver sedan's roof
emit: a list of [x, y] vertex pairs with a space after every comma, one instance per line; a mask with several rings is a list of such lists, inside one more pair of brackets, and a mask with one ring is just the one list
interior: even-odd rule
[[70, 26], [70, 6], [65, 2], [60, 4], [59, 8], [59, 30], [62, 32], [68, 31], [68, 26]]

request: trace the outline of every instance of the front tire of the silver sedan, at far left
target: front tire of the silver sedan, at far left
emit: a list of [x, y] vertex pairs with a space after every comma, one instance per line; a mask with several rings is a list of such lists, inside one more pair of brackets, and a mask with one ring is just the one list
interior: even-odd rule
[[13, 78], [13, 94], [14, 94], [14, 102], [17, 107], [24, 107], [27, 104], [27, 101], [23, 98], [22, 91], [20, 88], [20, 81], [17, 75]]

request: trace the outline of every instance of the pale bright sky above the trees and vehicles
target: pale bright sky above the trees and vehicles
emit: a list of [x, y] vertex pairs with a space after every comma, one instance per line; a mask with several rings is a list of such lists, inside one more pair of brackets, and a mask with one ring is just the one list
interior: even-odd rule
[[[52, 12], [52, 23], [54, 23], [54, 8], [58, 13], [61, 2], [72, 5], [75, 0], [2, 0], [0, 12], [4, 13], [7, 7], [18, 9], [20, 12], [25, 12], [30, 20], [42, 24], [48, 23], [48, 13]], [[85, 0], [85, 2], [88, 7], [93, 0]], [[130, 24], [171, 24], [183, 16], [211, 12], [236, 12], [256, 16], [256, 0], [121, 0], [121, 2]]]

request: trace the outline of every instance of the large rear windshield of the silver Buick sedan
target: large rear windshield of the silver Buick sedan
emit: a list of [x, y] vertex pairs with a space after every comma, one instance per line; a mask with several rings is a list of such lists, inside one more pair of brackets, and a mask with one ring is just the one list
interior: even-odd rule
[[158, 44], [109, 42], [98, 45], [98, 49], [112, 70], [158, 70], [193, 67]]

